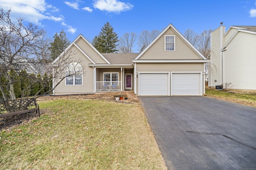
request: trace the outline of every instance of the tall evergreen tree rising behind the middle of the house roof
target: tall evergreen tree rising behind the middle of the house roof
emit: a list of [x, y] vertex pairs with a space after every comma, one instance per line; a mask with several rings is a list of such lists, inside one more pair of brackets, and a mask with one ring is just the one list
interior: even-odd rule
[[100, 35], [94, 37], [92, 44], [100, 53], [115, 53], [118, 41], [114, 28], [107, 22], [102, 27]]

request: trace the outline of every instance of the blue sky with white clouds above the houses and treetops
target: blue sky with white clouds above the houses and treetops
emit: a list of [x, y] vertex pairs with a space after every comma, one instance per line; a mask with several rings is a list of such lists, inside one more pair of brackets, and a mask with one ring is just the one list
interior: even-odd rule
[[[226, 25], [256, 25], [256, 0], [0, 0], [12, 17], [26, 18], [52, 38], [64, 29], [72, 42], [79, 34], [91, 41], [107, 21], [124, 33], [164, 29], [172, 23], [182, 34]], [[135, 44], [134, 52], [138, 52]]]

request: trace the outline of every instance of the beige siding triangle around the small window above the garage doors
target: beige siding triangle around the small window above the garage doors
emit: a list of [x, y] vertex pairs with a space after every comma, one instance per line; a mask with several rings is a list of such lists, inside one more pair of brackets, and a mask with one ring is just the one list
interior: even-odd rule
[[[165, 35], [175, 35], [175, 51], [165, 50]], [[140, 59], [201, 59], [171, 28], [168, 29]]]

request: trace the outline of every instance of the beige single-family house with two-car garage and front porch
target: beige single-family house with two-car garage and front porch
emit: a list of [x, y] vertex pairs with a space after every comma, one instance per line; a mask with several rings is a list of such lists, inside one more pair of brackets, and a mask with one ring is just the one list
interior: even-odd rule
[[99, 53], [82, 35], [69, 49], [76, 51], [74, 57], [80, 59], [83, 74], [60, 82], [55, 95], [124, 90], [138, 96], [204, 94], [208, 60], [172, 24], [142, 53]]

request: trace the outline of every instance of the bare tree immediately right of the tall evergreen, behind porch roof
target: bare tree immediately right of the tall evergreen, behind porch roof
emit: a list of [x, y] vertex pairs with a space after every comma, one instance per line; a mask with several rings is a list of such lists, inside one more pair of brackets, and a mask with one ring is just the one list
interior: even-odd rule
[[119, 53], [133, 53], [132, 47], [136, 40], [137, 34], [134, 32], [125, 33], [123, 37], [119, 39], [118, 52]]

